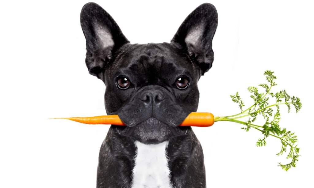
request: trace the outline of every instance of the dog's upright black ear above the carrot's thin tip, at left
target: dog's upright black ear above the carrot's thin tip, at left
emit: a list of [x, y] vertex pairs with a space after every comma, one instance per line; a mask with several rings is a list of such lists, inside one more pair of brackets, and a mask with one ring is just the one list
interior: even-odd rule
[[86, 66], [91, 75], [100, 78], [99, 73], [106, 69], [112, 54], [129, 41], [113, 18], [96, 3], [85, 4], [80, 19], [86, 39]]

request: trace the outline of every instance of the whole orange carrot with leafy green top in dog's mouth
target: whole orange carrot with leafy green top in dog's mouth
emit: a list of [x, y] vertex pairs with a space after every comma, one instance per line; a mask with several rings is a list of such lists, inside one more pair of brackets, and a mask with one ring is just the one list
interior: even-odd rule
[[[241, 100], [241, 97], [238, 92], [235, 95], [230, 95], [231, 100], [237, 103], [240, 107], [241, 112], [230, 115], [230, 116], [220, 116], [214, 117], [213, 114], [208, 112], [192, 112], [187, 118], [179, 125], [179, 126], [197, 126], [197, 127], [209, 127], [214, 124], [214, 122], [218, 121], [229, 121], [235, 122], [244, 125], [241, 129], [244, 129], [248, 132], [251, 128], [260, 131], [263, 134], [262, 138], [259, 138], [256, 142], [258, 147], [262, 147], [266, 145], [265, 139], [268, 136], [273, 136], [275, 138], [280, 139], [281, 150], [277, 155], [282, 155], [284, 152], [288, 153], [287, 159], [291, 159], [290, 163], [282, 164], [279, 163], [283, 170], [287, 171], [291, 167], [295, 167], [296, 162], [298, 161], [299, 150], [297, 147], [297, 137], [295, 133], [286, 130], [285, 128], [279, 127], [280, 120], [280, 111], [279, 105], [286, 105], [288, 107], [288, 112], [290, 112], [291, 107], [295, 107], [295, 111], [299, 112], [302, 103], [299, 97], [292, 96], [287, 94], [286, 90], [278, 91], [278, 92], [270, 92], [273, 86], [277, 84], [274, 82], [277, 79], [276, 76], [273, 75], [273, 72], [270, 70], [266, 70], [264, 72], [266, 76], [267, 84], [260, 84], [258, 86], [263, 87], [265, 89], [265, 93], [259, 92], [257, 87], [250, 86], [247, 88], [252, 95], [250, 96], [254, 100], [254, 104], [249, 105], [248, 108], [244, 108], [244, 102]], [[269, 104], [269, 98], [275, 98], [275, 103]], [[276, 107], [276, 110], [273, 109]], [[265, 123], [262, 125], [255, 124], [255, 120], [258, 115], [262, 115]], [[240, 118], [248, 118], [247, 121], [239, 120]], [[77, 121], [80, 123], [88, 123], [88, 124], [114, 124], [114, 125], [125, 125], [121, 119], [117, 115], [110, 116], [95, 116], [95, 117], [87, 117], [87, 118], [56, 118], [56, 119], [70, 119], [73, 121]]]

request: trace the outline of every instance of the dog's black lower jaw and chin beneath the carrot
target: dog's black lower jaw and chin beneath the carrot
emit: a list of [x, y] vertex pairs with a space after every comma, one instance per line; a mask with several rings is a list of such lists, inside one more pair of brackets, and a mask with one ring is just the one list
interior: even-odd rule
[[186, 133], [187, 127], [171, 127], [156, 118], [149, 118], [134, 127], [125, 127], [119, 132], [120, 135], [131, 137], [143, 144], [159, 144]]

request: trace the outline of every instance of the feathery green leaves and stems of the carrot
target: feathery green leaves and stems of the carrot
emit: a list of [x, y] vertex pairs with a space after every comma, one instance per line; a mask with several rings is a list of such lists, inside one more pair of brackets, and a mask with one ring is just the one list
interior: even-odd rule
[[[237, 103], [240, 107], [241, 112], [231, 116], [224, 117], [214, 117], [214, 121], [230, 121], [236, 122], [245, 125], [241, 129], [244, 129], [246, 132], [251, 128], [259, 130], [263, 134], [263, 138], [259, 138], [256, 142], [258, 147], [262, 147], [266, 145], [266, 138], [268, 136], [273, 136], [275, 138], [279, 138], [281, 142], [281, 150], [277, 155], [282, 155], [287, 151], [288, 147], [288, 155], [287, 159], [291, 159], [290, 163], [282, 164], [278, 163], [283, 170], [287, 171], [291, 167], [296, 166], [296, 162], [298, 161], [300, 148], [297, 147], [297, 136], [291, 131], [287, 131], [285, 128], [279, 127], [280, 121], [280, 105], [286, 105], [288, 107], [288, 113], [291, 110], [291, 107], [295, 107], [295, 111], [299, 112], [302, 103], [300, 102], [299, 97], [290, 97], [285, 90], [278, 91], [276, 93], [271, 92], [273, 86], [277, 84], [274, 82], [277, 79], [276, 76], [273, 75], [273, 72], [267, 70], [264, 72], [266, 76], [267, 84], [260, 84], [258, 86], [262, 87], [265, 92], [258, 91], [257, 87], [250, 86], [247, 90], [251, 93], [251, 98], [254, 100], [252, 106], [248, 108], [244, 108], [245, 105], [241, 100], [241, 97], [238, 92], [235, 95], [230, 95], [233, 102]], [[269, 102], [269, 99], [273, 98], [275, 102]], [[274, 109], [275, 108], [275, 109]], [[257, 125], [254, 122], [256, 121], [258, 116], [262, 116], [264, 118], [265, 123], [263, 125]], [[246, 121], [239, 120], [240, 118], [246, 118]]]

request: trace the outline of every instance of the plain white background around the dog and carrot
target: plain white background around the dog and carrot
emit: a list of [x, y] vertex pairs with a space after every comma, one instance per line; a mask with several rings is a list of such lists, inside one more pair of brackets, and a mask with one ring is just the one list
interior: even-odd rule
[[[303, 108], [282, 107], [281, 127], [299, 138], [300, 161], [285, 172], [280, 141], [256, 147], [260, 132], [218, 122], [193, 128], [205, 156], [207, 187], [313, 187], [313, 4], [311, 1], [218, 1], [213, 67], [198, 85], [199, 112], [238, 113], [229, 95], [278, 77]], [[105, 86], [88, 74], [79, 14], [87, 1], [6, 1], [1, 19], [0, 187], [95, 187], [98, 152], [109, 126], [48, 117], [104, 115]], [[96, 1], [131, 43], [170, 42], [204, 1]]]

